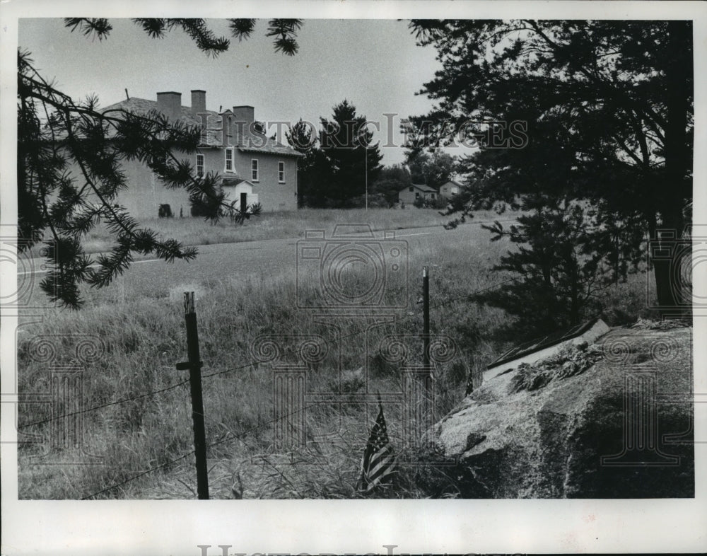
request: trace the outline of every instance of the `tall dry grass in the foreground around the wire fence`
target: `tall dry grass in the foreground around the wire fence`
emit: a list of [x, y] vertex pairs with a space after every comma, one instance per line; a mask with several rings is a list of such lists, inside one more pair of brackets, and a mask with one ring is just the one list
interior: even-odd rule
[[[329, 226], [328, 218], [319, 223], [320, 228]], [[304, 228], [306, 226], [299, 229]], [[436, 417], [445, 415], [464, 397], [469, 375], [478, 386], [485, 364], [506, 348], [506, 345], [496, 344], [492, 335], [493, 330], [503, 324], [504, 313], [470, 303], [468, 296], [505, 278], [492, 272], [491, 267], [507, 247], [503, 243], [479, 242], [443, 245], [425, 253], [410, 254], [412, 266], [431, 265], [431, 329], [452, 337], [459, 348], [457, 357], [438, 366], [436, 371]], [[351, 279], [355, 282], [360, 277]], [[633, 299], [626, 298], [626, 292], [638, 291], [642, 282], [636, 284], [622, 285], [621, 299]], [[332, 390], [339, 384], [341, 371], [341, 392], [363, 392], [365, 386], [358, 369], [366, 357], [370, 368], [368, 392], [390, 393], [399, 389], [400, 368], [383, 361], [378, 342], [390, 333], [418, 335], [421, 332], [421, 306], [416, 304], [419, 292], [411, 287], [407, 310], [396, 314], [399, 320], [368, 332], [365, 354], [367, 325], [361, 319], [339, 318], [339, 367], [333, 329], [313, 323], [310, 312], [297, 310], [296, 285], [289, 274], [271, 274], [245, 281], [227, 276], [209, 277], [194, 285], [201, 291], [197, 309], [204, 361], [206, 439], [212, 445], [208, 453], [212, 496], [358, 497], [355, 490], [358, 465], [375, 411], [371, 409], [367, 414], [366, 408], [354, 397], [345, 400], [340, 409], [329, 404], [317, 405], [306, 414], [308, 446], [275, 451], [272, 447], [272, 370], [269, 364], [253, 364], [251, 347], [255, 338], [263, 334], [319, 333], [327, 338], [332, 349], [322, 361], [309, 364], [308, 391]], [[313, 295], [313, 291], [310, 294]], [[33, 456], [40, 463], [59, 459], [92, 460], [77, 451], [64, 450], [42, 456], [39, 445], [22, 446], [19, 495], [22, 499], [86, 497], [164, 465], [98, 494], [98, 498], [192, 498], [196, 486], [194, 456], [190, 454], [192, 422], [188, 385], [106, 405], [162, 390], [187, 378], [186, 371], [175, 370], [175, 363], [186, 359], [180, 300], [144, 297], [116, 304], [109, 299], [109, 294], [101, 302], [100, 295], [99, 292], [93, 306], [80, 312], [47, 310], [42, 323], [21, 327], [18, 369], [21, 392], [46, 392], [47, 366], [34, 361], [30, 354], [37, 335], [65, 337], [59, 342], [57, 364], [70, 364], [74, 357], [67, 330], [72, 335], [95, 335], [103, 340], [105, 354], [84, 371], [83, 400], [85, 407], [105, 407], [82, 414], [85, 451], [102, 458], [103, 465], [33, 465]], [[633, 311], [632, 307], [621, 310], [624, 309]], [[421, 361], [421, 345], [414, 341], [413, 344], [409, 364]], [[61, 414], [62, 410], [58, 412]], [[399, 407], [386, 405], [385, 415], [392, 444], [402, 451]], [[47, 423], [26, 425], [51, 417], [52, 409], [47, 405], [20, 407], [20, 425], [25, 425], [23, 432], [48, 434]], [[186, 457], [170, 463], [185, 454]], [[445, 468], [420, 463], [419, 453], [402, 456], [418, 461], [418, 465], [403, 466], [397, 487], [378, 495], [455, 495], [454, 481]]]

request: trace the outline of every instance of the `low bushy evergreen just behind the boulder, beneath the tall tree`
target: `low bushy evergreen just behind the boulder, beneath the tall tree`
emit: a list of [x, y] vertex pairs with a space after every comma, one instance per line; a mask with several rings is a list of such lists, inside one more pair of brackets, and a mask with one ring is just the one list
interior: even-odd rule
[[[600, 293], [622, 272], [609, 256], [617, 227], [604, 226], [597, 212], [571, 199], [527, 199], [532, 210], [518, 224], [498, 221], [481, 227], [491, 241], [515, 245], [493, 270], [514, 278], [475, 299], [516, 317], [505, 326], [509, 339], [530, 339], [580, 323], [602, 311]], [[625, 271], [624, 271], [625, 272]]]

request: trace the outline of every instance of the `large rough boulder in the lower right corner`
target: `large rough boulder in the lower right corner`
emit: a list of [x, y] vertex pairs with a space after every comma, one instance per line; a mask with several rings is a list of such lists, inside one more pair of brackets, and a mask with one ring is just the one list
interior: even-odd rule
[[691, 332], [612, 330], [580, 373], [484, 383], [435, 427], [459, 495], [693, 497]]

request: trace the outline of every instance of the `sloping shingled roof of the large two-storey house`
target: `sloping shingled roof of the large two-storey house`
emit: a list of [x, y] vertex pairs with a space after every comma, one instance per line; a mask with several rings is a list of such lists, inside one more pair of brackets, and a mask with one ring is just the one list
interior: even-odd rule
[[[146, 115], [152, 110], [158, 110], [158, 105], [156, 100], [131, 97], [103, 108], [102, 112], [105, 113], [109, 110], [125, 110], [134, 114]], [[230, 110], [226, 110], [223, 113], [227, 112], [232, 113]], [[201, 146], [221, 147], [223, 144], [218, 133], [218, 129], [221, 128], [222, 124], [221, 115], [218, 112], [214, 112], [214, 110], [206, 110], [206, 114], [206, 130], [201, 134]], [[180, 120], [187, 125], [201, 125], [201, 119], [192, 114], [192, 109], [189, 106], [181, 107]], [[271, 137], [254, 132], [248, 129], [248, 126], [242, 126], [240, 129], [243, 130], [243, 133], [238, 137], [238, 141], [235, 141], [233, 137], [230, 138], [230, 144], [239, 151], [279, 154], [280, 156], [304, 156], [291, 146], [281, 144], [275, 139], [271, 139]]]

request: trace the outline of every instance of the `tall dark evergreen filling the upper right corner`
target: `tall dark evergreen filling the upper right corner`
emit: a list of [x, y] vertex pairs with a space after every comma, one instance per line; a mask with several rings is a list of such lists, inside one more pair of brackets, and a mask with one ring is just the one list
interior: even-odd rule
[[[438, 106], [414, 122], [428, 122], [431, 143], [480, 146], [462, 161], [474, 187], [452, 202], [457, 221], [477, 209], [547, 216], [559, 199], [583, 202], [594, 225], [582, 242], [609, 263], [597, 271], [614, 280], [645, 253], [646, 231], [682, 233], [692, 190], [689, 21], [413, 21], [411, 28], [443, 64], [424, 86]], [[542, 265], [549, 255], [531, 241], [542, 229], [524, 227], [517, 238]], [[662, 306], [676, 305], [670, 270], [679, 264], [653, 261]]]

